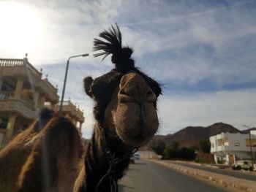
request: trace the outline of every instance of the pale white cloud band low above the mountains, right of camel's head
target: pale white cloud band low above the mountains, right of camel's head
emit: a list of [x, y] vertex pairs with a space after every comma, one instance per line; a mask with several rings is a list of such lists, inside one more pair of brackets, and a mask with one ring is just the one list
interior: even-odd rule
[[159, 98], [159, 134], [174, 133], [187, 126], [210, 126], [223, 122], [244, 129], [255, 127], [256, 90], [219, 91], [168, 95]]

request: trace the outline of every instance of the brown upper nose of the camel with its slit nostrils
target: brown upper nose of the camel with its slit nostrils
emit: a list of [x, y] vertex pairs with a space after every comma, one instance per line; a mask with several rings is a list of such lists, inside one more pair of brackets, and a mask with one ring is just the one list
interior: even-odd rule
[[154, 102], [157, 96], [139, 74], [129, 72], [121, 78], [118, 99], [121, 102]]

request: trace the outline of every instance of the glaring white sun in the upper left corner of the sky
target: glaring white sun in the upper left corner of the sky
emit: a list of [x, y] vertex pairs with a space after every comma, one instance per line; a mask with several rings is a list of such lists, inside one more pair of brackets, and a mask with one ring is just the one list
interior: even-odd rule
[[42, 41], [42, 20], [25, 4], [0, 2], [0, 24], [0, 55], [23, 55]]

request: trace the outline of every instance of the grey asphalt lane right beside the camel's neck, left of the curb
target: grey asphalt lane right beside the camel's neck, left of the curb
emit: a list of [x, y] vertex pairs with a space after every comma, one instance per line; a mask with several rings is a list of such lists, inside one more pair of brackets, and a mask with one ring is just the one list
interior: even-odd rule
[[151, 161], [130, 164], [127, 174], [118, 182], [118, 188], [121, 192], [225, 191]]

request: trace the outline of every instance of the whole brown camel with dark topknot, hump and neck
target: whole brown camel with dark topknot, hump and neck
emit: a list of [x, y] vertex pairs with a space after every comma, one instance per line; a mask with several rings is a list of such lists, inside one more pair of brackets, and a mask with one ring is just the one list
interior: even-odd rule
[[[118, 191], [129, 155], [156, 133], [159, 84], [140, 72], [118, 26], [94, 39], [95, 56], [112, 54], [115, 68], [84, 79], [94, 99], [94, 131], [86, 150], [71, 121], [50, 110], [0, 152], [0, 189], [9, 191]], [[104, 57], [104, 58], [105, 58]]]

